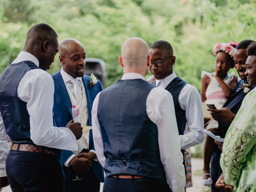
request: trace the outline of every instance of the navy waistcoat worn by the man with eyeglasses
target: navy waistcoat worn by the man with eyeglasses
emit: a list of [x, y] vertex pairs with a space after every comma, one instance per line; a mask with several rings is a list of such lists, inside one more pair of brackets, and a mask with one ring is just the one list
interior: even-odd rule
[[[154, 81], [152, 84], [155, 85], [156, 82]], [[186, 111], [180, 107], [180, 102], [179, 102], [180, 92], [186, 84], [187, 83], [185, 81], [183, 81], [179, 77], [176, 77], [165, 88], [166, 90], [168, 90], [168, 92], [172, 94], [179, 135], [184, 134], [184, 130], [187, 122]]]

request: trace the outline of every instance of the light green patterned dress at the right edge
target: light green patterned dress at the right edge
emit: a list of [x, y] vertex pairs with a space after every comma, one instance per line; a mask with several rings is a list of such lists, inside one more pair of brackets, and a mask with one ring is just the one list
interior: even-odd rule
[[256, 192], [256, 88], [245, 96], [222, 150], [225, 183], [235, 192]]

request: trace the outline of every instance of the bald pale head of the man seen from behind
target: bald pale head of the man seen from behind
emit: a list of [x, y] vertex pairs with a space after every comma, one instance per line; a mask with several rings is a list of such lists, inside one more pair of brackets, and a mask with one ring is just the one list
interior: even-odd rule
[[148, 56], [148, 44], [141, 38], [133, 37], [122, 44], [122, 62], [125, 69], [145, 68]]

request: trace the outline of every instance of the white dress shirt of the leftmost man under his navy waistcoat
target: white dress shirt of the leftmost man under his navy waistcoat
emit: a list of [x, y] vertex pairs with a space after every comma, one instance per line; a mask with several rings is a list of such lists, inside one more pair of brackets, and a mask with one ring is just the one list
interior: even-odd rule
[[[20, 52], [12, 63], [26, 60], [39, 66], [37, 58], [24, 51]], [[71, 130], [53, 126], [54, 82], [50, 74], [42, 69], [29, 70], [20, 80], [17, 94], [22, 101], [27, 102], [27, 110], [30, 115], [30, 138], [36, 145], [78, 150], [76, 137]], [[0, 140], [10, 141], [1, 114]]]

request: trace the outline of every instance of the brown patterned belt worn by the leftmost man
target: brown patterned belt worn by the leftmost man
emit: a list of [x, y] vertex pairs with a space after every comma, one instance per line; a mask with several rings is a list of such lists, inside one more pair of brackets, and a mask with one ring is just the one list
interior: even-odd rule
[[11, 150], [14, 151], [28, 151], [28, 152], [36, 152], [36, 153], [46, 153], [46, 154], [52, 154], [56, 155], [54, 152], [48, 150], [48, 149], [43, 149], [38, 146], [35, 146], [33, 144], [16, 144], [13, 143]]

